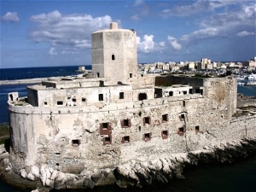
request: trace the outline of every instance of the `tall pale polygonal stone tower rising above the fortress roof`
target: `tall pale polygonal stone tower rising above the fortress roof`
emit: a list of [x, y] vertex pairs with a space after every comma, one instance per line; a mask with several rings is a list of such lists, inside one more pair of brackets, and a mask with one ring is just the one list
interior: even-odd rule
[[92, 75], [111, 78], [124, 84], [137, 79], [137, 35], [134, 30], [109, 29], [91, 34]]

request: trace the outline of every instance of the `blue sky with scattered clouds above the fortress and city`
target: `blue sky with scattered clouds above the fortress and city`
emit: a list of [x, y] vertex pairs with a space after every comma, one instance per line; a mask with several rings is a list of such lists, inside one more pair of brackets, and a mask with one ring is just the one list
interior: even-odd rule
[[1, 68], [91, 64], [90, 34], [137, 32], [138, 63], [247, 61], [256, 56], [250, 0], [1, 0]]

